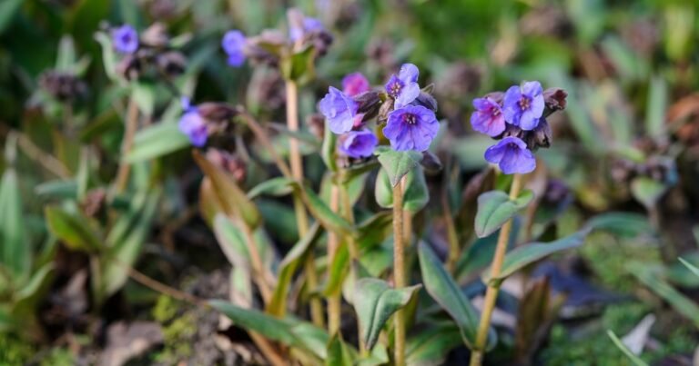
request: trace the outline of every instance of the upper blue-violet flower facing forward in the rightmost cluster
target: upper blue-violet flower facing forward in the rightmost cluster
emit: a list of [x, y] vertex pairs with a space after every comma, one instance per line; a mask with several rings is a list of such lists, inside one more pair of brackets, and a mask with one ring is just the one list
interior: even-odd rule
[[524, 82], [521, 86], [511, 86], [505, 92], [502, 114], [508, 124], [522, 130], [533, 130], [543, 114], [543, 89], [539, 82]]

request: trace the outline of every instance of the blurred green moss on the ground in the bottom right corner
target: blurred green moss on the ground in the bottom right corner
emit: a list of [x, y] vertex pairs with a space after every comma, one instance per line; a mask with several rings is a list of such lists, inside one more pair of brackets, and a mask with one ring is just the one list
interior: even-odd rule
[[[542, 351], [542, 361], [552, 366], [632, 366], [633, 363], [610, 341], [606, 331], [612, 330], [621, 337], [649, 312], [651, 308], [647, 304], [629, 302], [607, 307], [602, 318], [585, 329], [569, 331], [557, 324], [552, 329], [548, 347]], [[693, 351], [693, 332], [691, 326], [675, 328], [669, 334], [653, 332], [653, 338], [660, 341], [660, 347], [653, 351], [644, 350], [641, 358], [653, 363], [671, 354]]]

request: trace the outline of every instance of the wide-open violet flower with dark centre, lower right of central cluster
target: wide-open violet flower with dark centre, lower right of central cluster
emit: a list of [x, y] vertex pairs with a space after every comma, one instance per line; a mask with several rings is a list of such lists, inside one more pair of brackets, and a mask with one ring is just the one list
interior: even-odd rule
[[422, 105], [407, 105], [389, 114], [383, 134], [395, 151], [423, 152], [430, 148], [439, 130], [440, 124], [434, 112]]

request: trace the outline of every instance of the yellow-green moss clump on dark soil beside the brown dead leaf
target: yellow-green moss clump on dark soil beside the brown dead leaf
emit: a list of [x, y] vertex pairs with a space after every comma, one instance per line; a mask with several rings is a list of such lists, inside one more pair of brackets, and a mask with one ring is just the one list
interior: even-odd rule
[[182, 303], [161, 295], [153, 308], [153, 317], [163, 325], [165, 346], [154, 355], [154, 361], [164, 364], [177, 364], [192, 356], [192, 339], [197, 333], [197, 320], [194, 314], [184, 312]]

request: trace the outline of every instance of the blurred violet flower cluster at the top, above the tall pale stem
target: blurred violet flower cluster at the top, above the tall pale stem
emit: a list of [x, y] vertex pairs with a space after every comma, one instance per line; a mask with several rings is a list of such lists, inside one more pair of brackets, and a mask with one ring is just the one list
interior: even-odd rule
[[266, 29], [250, 37], [238, 29], [226, 32], [221, 39], [221, 47], [228, 56], [228, 65], [240, 67], [246, 60], [256, 64], [279, 64], [285, 47], [299, 52], [313, 46], [317, 55], [327, 52], [332, 35], [318, 19], [305, 16], [297, 9], [290, 9], [288, 18], [288, 35], [276, 29]]

